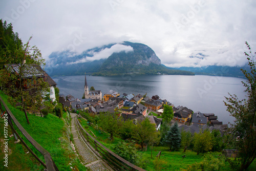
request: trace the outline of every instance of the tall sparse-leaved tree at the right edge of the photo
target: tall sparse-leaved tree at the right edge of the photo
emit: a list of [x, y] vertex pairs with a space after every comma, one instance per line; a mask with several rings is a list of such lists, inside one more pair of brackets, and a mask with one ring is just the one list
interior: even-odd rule
[[239, 100], [236, 95], [225, 97], [224, 101], [227, 111], [235, 118], [231, 124], [230, 132], [236, 136], [239, 157], [241, 159], [241, 170], [245, 170], [256, 157], [256, 52], [252, 53], [248, 42], [245, 42], [249, 52], [245, 52], [248, 60], [249, 71], [241, 69], [246, 82], [247, 99]]

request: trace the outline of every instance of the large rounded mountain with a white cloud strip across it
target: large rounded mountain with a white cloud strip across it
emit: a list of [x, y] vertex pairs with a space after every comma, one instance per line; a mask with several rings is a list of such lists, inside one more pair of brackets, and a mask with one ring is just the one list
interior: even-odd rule
[[70, 51], [53, 52], [47, 61], [50, 75], [95, 76], [122, 74], [194, 75], [193, 72], [168, 69], [161, 65], [155, 52], [144, 44], [124, 41], [75, 54]]

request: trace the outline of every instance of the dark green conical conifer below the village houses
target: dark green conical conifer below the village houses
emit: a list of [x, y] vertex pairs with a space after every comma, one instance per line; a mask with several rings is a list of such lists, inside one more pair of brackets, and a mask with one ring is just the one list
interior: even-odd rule
[[175, 124], [170, 127], [170, 130], [167, 132], [162, 142], [163, 144], [170, 146], [170, 151], [172, 151], [172, 149], [174, 149], [174, 151], [179, 149], [181, 143], [181, 135], [177, 122], [175, 122]]

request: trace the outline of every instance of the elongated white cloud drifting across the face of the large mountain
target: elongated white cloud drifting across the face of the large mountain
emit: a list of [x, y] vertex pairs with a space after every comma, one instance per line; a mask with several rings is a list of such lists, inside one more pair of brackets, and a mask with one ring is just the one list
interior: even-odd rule
[[115, 44], [111, 48], [105, 48], [101, 50], [100, 52], [94, 52], [90, 51], [90, 55], [93, 55], [92, 57], [86, 56], [82, 59], [79, 59], [74, 62], [69, 62], [67, 65], [72, 65], [75, 63], [84, 63], [84, 62], [90, 62], [94, 60], [100, 60], [100, 59], [106, 59], [109, 56], [111, 56], [113, 53], [118, 53], [124, 51], [125, 53], [133, 51], [133, 48], [131, 46], [125, 46], [121, 44]]

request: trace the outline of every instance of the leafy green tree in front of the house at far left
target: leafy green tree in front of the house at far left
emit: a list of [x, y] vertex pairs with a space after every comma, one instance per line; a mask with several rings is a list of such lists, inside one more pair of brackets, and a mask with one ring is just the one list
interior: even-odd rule
[[[12, 32], [11, 25], [8, 25], [8, 30]], [[7, 65], [5, 68], [1, 66], [3, 69], [0, 70], [0, 86], [9, 95], [9, 101], [13, 105], [18, 103], [22, 106], [27, 122], [30, 124], [27, 111], [38, 110], [42, 105], [42, 95], [50, 92], [48, 83], [42, 77], [38, 77], [37, 67], [44, 65], [45, 59], [41, 57], [37, 47], [29, 46], [32, 37], [23, 46], [17, 34], [10, 35], [12, 37], [9, 38], [14, 39], [15, 46], [6, 45], [6, 48], [2, 49], [0, 63]], [[12, 47], [11, 50], [9, 46]]]

